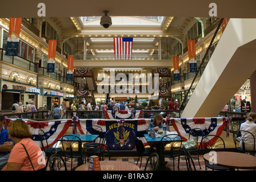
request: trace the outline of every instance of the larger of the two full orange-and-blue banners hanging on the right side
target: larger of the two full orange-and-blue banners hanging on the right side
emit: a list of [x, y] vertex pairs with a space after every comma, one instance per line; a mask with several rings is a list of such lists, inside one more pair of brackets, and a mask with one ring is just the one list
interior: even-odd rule
[[197, 59], [195, 57], [195, 40], [187, 40], [187, 51], [189, 53], [189, 71], [197, 72]]

